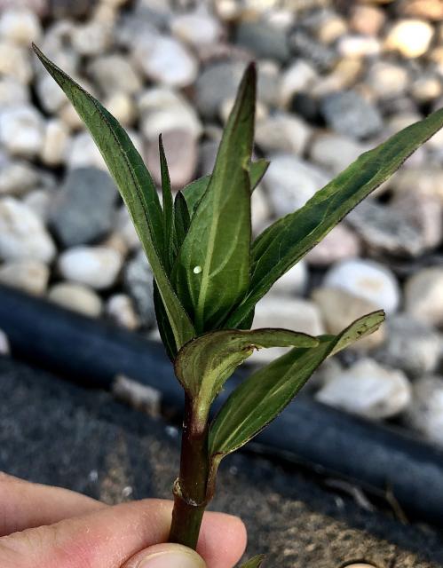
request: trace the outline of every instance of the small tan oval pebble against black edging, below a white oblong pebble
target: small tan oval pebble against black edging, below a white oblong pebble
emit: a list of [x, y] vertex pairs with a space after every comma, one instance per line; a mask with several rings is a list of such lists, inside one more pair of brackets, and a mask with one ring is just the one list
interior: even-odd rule
[[100, 297], [87, 286], [75, 282], [59, 282], [51, 287], [48, 298], [68, 310], [98, 318], [102, 312]]

